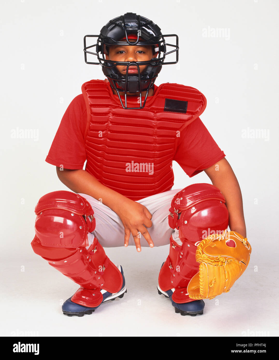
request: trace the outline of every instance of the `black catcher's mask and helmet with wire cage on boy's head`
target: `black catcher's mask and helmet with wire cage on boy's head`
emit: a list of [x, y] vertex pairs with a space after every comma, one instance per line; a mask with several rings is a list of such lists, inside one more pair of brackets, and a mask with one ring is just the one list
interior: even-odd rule
[[[151, 20], [144, 18], [135, 13], [126, 13], [117, 18], [110, 20], [100, 31], [100, 35], [85, 35], [84, 37], [84, 57], [86, 64], [94, 64], [102, 66], [104, 75], [108, 78], [112, 89], [117, 91], [120, 103], [124, 109], [142, 109], [148, 96], [149, 89], [153, 86], [156, 77], [161, 71], [162, 65], [176, 64], [178, 62], [178, 36], [162, 35], [161, 28], [154, 24]], [[167, 44], [165, 37], [175, 36], [176, 44]], [[97, 37], [97, 43], [94, 45], [86, 46], [87, 37]], [[130, 41], [133, 40], [133, 41]], [[108, 54], [107, 45], [121, 45], [121, 46], [148, 46], [154, 47], [153, 53], [159, 54], [158, 58], [152, 58], [148, 61], [138, 62], [120, 62], [114, 60], [106, 60], [105, 54]], [[175, 49], [168, 51], [166, 46], [172, 46]], [[96, 46], [96, 53], [88, 51], [88, 49]], [[167, 54], [176, 51], [176, 61], [164, 62]], [[162, 53], [162, 56], [161, 56]], [[97, 56], [99, 62], [87, 61], [87, 54]], [[101, 54], [101, 57], [100, 57]], [[117, 66], [127, 66], [126, 75], [121, 74]], [[145, 70], [140, 73], [140, 65], [147, 65]], [[129, 66], [136, 66], [138, 69], [137, 74], [129, 74]], [[141, 93], [146, 90], [144, 103], [142, 104]], [[125, 106], [120, 98], [119, 92], [124, 91]], [[127, 107], [127, 93], [139, 93], [140, 106], [135, 108]]]

